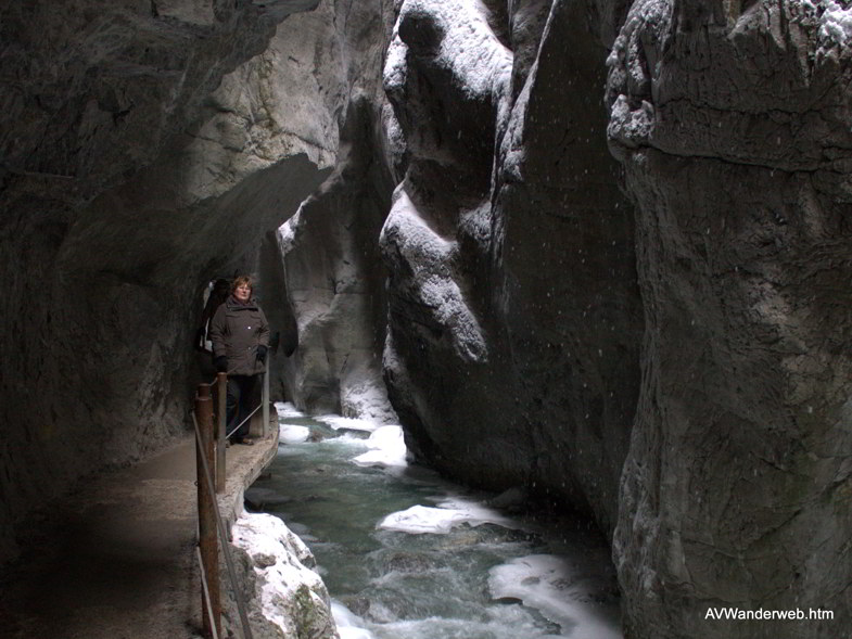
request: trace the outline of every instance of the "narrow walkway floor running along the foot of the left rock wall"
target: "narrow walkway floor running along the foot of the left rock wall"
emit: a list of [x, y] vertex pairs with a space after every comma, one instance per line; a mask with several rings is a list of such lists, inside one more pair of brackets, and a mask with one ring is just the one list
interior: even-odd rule
[[[255, 446], [228, 449], [219, 508], [229, 522], [242, 509], [243, 490], [275, 457], [277, 431]], [[0, 578], [0, 636], [200, 637], [196, 526], [191, 436], [104, 473], [30, 525], [21, 561]]]

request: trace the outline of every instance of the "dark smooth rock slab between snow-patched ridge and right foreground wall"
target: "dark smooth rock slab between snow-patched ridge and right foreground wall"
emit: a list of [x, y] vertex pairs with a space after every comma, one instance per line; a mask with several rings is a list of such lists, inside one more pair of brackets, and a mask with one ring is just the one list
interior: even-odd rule
[[606, 72], [588, 10], [550, 9], [497, 156], [493, 255], [534, 476], [587, 500], [611, 529], [643, 315], [633, 209], [603, 141]]

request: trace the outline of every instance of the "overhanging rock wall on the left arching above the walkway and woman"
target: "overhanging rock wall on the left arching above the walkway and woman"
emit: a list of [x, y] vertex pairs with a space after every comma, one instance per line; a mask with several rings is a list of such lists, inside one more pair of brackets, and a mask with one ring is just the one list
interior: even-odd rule
[[0, 558], [31, 508], [185, 432], [204, 284], [336, 156], [293, 13], [316, 4], [3, 8]]

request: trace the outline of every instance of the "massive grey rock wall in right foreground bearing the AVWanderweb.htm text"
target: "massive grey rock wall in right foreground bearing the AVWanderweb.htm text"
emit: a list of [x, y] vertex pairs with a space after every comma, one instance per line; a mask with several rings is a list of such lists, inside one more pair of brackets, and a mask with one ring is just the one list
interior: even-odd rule
[[[631, 636], [852, 623], [841, 4], [634, 2], [610, 56], [647, 321], [614, 546]], [[722, 605], [835, 618], [707, 618]]]

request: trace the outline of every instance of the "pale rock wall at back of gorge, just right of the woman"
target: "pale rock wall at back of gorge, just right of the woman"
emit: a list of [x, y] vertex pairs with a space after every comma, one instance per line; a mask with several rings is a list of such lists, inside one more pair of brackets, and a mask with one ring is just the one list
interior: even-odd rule
[[279, 232], [280, 292], [298, 345], [284, 385], [302, 410], [395, 423], [382, 382], [387, 271], [377, 242], [393, 181], [376, 154], [373, 108], [365, 95], [353, 101], [334, 175]]

